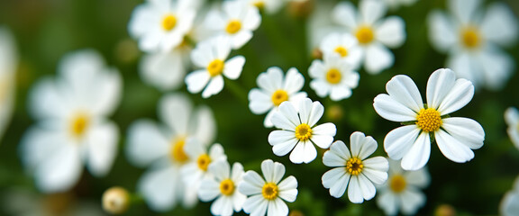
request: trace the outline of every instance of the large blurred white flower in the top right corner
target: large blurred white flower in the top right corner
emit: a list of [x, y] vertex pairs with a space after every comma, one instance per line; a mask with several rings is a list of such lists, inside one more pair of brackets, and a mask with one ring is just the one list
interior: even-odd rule
[[451, 14], [429, 15], [432, 45], [447, 52], [446, 67], [476, 87], [501, 89], [514, 71], [514, 59], [500, 47], [517, 39], [514, 13], [503, 3], [490, 4], [481, 14], [480, 0], [448, 1]]

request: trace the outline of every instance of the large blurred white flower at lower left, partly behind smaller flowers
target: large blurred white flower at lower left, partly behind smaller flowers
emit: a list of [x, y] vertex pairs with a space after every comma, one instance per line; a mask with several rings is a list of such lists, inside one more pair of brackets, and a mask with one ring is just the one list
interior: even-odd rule
[[158, 113], [164, 124], [139, 120], [128, 131], [128, 159], [136, 166], [150, 167], [137, 189], [154, 211], [168, 211], [178, 202], [192, 206], [196, 188], [184, 184], [180, 168], [190, 159], [185, 151], [188, 139], [205, 145], [213, 141], [213, 112], [205, 106], [194, 109], [184, 94], [168, 94], [160, 100]]

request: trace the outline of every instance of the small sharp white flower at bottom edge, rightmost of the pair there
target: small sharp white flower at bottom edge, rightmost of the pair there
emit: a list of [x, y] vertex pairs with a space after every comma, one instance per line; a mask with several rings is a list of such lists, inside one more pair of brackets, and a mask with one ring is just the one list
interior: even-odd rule
[[262, 178], [254, 171], [247, 171], [238, 191], [249, 197], [243, 203], [243, 211], [250, 215], [288, 215], [287, 203], [294, 202], [297, 197], [297, 180], [290, 175], [283, 181], [285, 166], [270, 159], [261, 163]]

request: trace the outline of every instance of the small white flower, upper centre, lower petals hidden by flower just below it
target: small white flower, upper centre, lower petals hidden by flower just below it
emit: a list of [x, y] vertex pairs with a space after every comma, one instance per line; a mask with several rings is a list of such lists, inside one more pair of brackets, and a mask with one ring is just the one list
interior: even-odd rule
[[319, 47], [324, 55], [337, 54], [352, 68], [358, 68], [362, 59], [359, 42], [350, 33], [332, 32], [326, 35]]

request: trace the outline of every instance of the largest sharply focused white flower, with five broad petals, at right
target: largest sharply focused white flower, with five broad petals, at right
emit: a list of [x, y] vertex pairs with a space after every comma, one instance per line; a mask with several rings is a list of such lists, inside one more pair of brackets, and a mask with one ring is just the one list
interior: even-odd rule
[[474, 85], [469, 80], [456, 79], [451, 69], [438, 69], [429, 77], [426, 104], [409, 76], [394, 76], [387, 82], [386, 90], [387, 94], [375, 97], [373, 106], [382, 118], [408, 122], [391, 130], [384, 139], [387, 155], [402, 159], [405, 170], [425, 166], [434, 139], [443, 155], [457, 163], [469, 161], [474, 157], [471, 149], [483, 146], [485, 131], [478, 121], [449, 115], [469, 103], [474, 95]]

